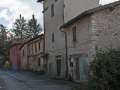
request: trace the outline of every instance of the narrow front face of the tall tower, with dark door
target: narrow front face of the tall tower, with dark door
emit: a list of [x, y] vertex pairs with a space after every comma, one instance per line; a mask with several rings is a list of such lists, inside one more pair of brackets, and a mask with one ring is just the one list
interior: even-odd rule
[[64, 33], [59, 30], [64, 23], [64, 0], [44, 0], [43, 3], [47, 75], [64, 78], [65, 41]]

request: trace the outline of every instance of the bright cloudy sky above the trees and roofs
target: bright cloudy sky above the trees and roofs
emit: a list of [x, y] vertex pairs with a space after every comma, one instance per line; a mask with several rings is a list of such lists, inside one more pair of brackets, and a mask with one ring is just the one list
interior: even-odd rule
[[[0, 0], [0, 24], [12, 27], [15, 19], [22, 14], [30, 19], [32, 14], [36, 15], [38, 22], [43, 26], [42, 4], [37, 0]], [[101, 4], [107, 4], [117, 0], [101, 0]]]

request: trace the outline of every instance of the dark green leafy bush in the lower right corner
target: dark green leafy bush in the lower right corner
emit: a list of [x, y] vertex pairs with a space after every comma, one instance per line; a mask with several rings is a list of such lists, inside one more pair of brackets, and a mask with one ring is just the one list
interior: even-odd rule
[[91, 90], [120, 90], [120, 50], [97, 50], [91, 71]]

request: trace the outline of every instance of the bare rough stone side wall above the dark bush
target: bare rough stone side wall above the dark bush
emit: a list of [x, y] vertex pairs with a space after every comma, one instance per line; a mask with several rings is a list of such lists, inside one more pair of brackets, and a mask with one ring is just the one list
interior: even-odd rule
[[120, 48], [120, 6], [92, 15], [92, 32], [98, 48]]

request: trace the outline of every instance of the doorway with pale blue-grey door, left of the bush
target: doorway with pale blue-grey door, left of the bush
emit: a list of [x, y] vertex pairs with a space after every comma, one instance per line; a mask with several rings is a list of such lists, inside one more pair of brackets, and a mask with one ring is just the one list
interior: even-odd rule
[[88, 58], [86, 55], [74, 55], [71, 57], [70, 73], [75, 81], [86, 81], [88, 79]]

